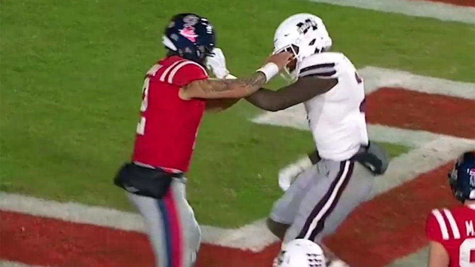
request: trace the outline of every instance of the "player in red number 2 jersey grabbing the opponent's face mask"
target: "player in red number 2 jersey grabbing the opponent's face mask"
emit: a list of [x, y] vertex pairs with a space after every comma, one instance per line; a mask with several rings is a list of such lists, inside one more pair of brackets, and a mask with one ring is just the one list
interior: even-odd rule
[[[203, 113], [225, 109], [255, 92], [280, 72], [292, 54], [271, 56], [245, 78], [209, 79], [203, 66], [221, 51], [215, 47], [211, 23], [191, 13], [171, 19], [163, 44], [167, 56], [145, 75], [132, 162], [122, 166], [114, 183], [127, 190], [145, 219], [156, 265], [191, 267], [201, 233], [186, 200], [184, 174]], [[228, 77], [236, 78], [228, 74], [218, 78]]]

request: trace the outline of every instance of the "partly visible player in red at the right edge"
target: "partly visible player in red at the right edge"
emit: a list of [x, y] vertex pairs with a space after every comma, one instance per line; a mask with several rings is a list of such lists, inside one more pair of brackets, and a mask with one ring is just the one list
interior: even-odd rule
[[427, 217], [428, 267], [475, 267], [475, 153], [464, 153], [449, 173], [455, 198], [463, 205], [435, 209]]

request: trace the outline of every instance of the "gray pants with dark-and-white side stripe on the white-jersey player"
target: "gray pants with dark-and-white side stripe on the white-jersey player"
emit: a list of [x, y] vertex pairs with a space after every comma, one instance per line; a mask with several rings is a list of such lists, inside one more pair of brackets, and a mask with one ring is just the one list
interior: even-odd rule
[[321, 242], [367, 200], [375, 176], [354, 160], [320, 160], [301, 173], [274, 204], [270, 218], [289, 224], [284, 243], [305, 238]]

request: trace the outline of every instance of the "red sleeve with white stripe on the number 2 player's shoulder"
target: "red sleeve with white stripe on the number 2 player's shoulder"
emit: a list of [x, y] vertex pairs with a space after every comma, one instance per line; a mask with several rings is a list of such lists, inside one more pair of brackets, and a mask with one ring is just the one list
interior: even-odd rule
[[185, 86], [192, 81], [208, 79], [206, 69], [193, 61], [178, 64], [170, 71], [167, 82], [177, 86]]

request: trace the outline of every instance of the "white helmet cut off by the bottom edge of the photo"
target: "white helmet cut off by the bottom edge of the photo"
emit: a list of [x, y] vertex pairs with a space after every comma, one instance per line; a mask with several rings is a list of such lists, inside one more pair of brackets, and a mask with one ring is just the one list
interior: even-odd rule
[[285, 244], [273, 267], [327, 267], [323, 250], [308, 239], [294, 239]]

